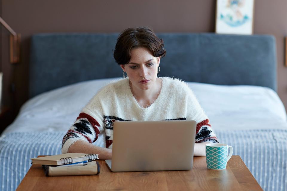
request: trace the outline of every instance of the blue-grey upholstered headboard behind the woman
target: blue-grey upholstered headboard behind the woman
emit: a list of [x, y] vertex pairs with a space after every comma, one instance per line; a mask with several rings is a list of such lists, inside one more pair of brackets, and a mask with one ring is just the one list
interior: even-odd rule
[[[121, 77], [113, 58], [118, 34], [51, 33], [32, 36], [29, 95], [79, 81]], [[277, 90], [275, 39], [269, 35], [160, 33], [167, 54], [159, 76]]]

